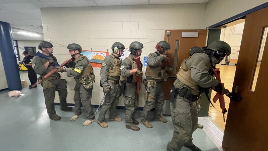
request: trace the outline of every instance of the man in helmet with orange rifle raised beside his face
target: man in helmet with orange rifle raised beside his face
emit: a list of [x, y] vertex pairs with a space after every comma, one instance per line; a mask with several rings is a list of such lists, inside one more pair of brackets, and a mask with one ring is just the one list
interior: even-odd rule
[[[170, 45], [166, 41], [158, 42], [161, 50], [150, 53], [147, 58], [147, 68], [146, 68], [146, 94], [145, 105], [143, 107], [143, 112], [141, 114], [140, 123], [146, 128], [152, 128], [152, 124], [147, 120], [149, 111], [153, 108], [155, 103], [154, 118], [163, 123], [168, 122], [164, 117], [161, 116], [161, 109], [164, 105], [164, 91], [162, 87], [162, 81], [166, 77], [166, 71], [170, 68], [166, 66], [165, 61], [167, 61], [168, 50]], [[163, 64], [164, 63], [164, 64]], [[146, 83], [146, 82], [145, 82]]]

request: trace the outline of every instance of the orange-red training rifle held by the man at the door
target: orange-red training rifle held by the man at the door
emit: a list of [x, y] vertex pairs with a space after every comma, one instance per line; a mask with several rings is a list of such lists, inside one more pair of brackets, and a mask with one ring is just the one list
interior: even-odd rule
[[[220, 82], [220, 68], [216, 68], [213, 70], [216, 79]], [[222, 110], [222, 114], [223, 114], [223, 121], [225, 122], [225, 117], [224, 114], [227, 112], [226, 108], [225, 108], [225, 102], [224, 102], [224, 83], [221, 83], [221, 86], [223, 87], [221, 94], [219, 92], [217, 92], [217, 94], [213, 97], [213, 102], [216, 103], [217, 100], [219, 100], [220, 102], [220, 108]], [[213, 90], [215, 89], [215, 87], [213, 86], [212, 88]]]

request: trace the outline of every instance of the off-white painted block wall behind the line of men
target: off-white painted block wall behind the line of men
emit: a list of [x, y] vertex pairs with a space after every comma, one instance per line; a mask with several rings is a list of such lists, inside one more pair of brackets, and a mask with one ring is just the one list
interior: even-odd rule
[[[164, 40], [165, 30], [204, 29], [205, 9], [206, 4], [41, 8], [41, 16], [44, 38], [51, 40], [55, 46], [53, 54], [62, 63], [70, 58], [68, 50], [62, 45], [70, 43], [78, 43], [84, 50], [108, 49], [110, 52], [116, 41], [129, 47], [133, 41], [145, 43], [154, 39], [154, 42], [144, 44], [142, 55], [149, 55], [155, 51], [157, 42]], [[145, 70], [143, 68], [144, 73]], [[94, 68], [96, 80], [92, 104], [99, 104], [103, 97], [99, 72], [100, 68]], [[75, 81], [64, 73], [62, 77], [68, 81], [67, 102], [73, 103]], [[143, 92], [140, 94], [140, 107], [145, 103]], [[121, 97], [119, 106], [124, 106], [122, 100]], [[55, 102], [59, 102], [58, 97], [55, 97]]]

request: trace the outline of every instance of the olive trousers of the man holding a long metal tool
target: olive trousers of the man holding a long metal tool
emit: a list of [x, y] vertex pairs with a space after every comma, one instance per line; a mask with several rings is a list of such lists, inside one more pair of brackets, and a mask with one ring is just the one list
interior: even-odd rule
[[119, 92], [120, 90], [119, 84], [113, 84], [113, 87], [114, 88], [112, 89], [112, 91], [106, 94], [104, 98], [104, 103], [101, 106], [100, 114], [98, 117], [98, 120], [100, 122], [104, 122], [105, 114], [108, 110], [110, 111], [109, 115], [110, 119], [115, 119], [116, 117], [116, 107], [119, 103], [119, 97], [121, 96], [121, 94]]

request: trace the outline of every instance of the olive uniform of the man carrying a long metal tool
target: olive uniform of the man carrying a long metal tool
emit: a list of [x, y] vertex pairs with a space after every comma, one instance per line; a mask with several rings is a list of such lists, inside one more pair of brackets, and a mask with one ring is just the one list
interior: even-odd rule
[[98, 117], [98, 121], [101, 123], [104, 122], [104, 117], [108, 110], [110, 111], [109, 119], [115, 119], [116, 117], [116, 107], [119, 103], [119, 97], [121, 96], [121, 93], [119, 92], [120, 86], [118, 83], [121, 74], [121, 63], [121, 59], [112, 53], [111, 55], [105, 57], [103, 63], [101, 64], [101, 84], [109, 83], [113, 86], [113, 89], [106, 94], [104, 103], [101, 106]]

